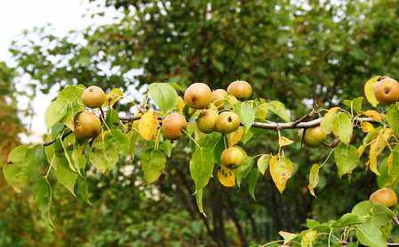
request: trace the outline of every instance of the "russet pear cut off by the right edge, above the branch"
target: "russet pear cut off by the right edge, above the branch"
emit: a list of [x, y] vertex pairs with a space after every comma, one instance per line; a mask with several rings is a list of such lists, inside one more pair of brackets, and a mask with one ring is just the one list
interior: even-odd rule
[[379, 103], [395, 103], [399, 101], [399, 83], [393, 78], [384, 77], [374, 85], [374, 95]]

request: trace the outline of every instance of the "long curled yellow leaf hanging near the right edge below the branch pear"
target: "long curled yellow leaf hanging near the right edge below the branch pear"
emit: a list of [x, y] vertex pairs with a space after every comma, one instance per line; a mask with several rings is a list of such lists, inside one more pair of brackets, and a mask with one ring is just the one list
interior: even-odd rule
[[379, 154], [384, 151], [385, 147], [387, 146], [387, 142], [392, 135], [393, 132], [391, 128], [383, 128], [381, 131], [379, 131], [379, 136], [377, 136], [370, 145], [370, 169], [377, 175], [379, 175], [379, 170], [377, 169]]

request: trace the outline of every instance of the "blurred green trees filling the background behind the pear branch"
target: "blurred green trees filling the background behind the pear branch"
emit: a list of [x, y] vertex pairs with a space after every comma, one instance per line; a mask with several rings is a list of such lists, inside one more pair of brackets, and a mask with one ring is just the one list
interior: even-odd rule
[[[15, 69], [29, 75], [32, 92], [77, 83], [122, 87], [129, 100], [118, 110], [127, 112], [135, 110], [134, 100], [140, 101], [152, 82], [177, 82], [183, 92], [195, 81], [216, 89], [245, 79], [254, 97], [280, 100], [295, 119], [312, 107], [331, 107], [362, 95], [362, 84], [375, 74], [399, 78], [395, 0], [92, 2], [98, 7], [89, 12], [92, 17], [102, 16], [107, 8], [119, 15], [111, 24], [72, 31], [66, 37], [35, 29], [12, 44]], [[293, 130], [284, 131], [284, 136], [299, 138]], [[276, 140], [275, 133], [256, 130], [246, 151], [276, 152]], [[4, 188], [11, 200], [6, 208], [14, 211], [6, 210], [0, 221], [0, 230], [7, 230], [0, 231], [5, 232], [0, 243], [23, 238], [68, 246], [246, 246], [276, 238], [279, 230], [297, 231], [305, 218], [334, 218], [367, 199], [376, 187], [371, 172], [359, 169], [341, 180], [328, 162], [317, 198], [312, 197], [307, 174], [329, 151], [299, 149], [296, 144], [288, 156], [297, 171], [282, 195], [269, 176], [258, 179], [256, 201], [247, 185], [225, 189], [213, 179], [204, 195], [204, 218], [191, 194], [184, 144], [177, 145], [181, 148], [175, 149], [156, 185], [143, 185], [139, 164], [126, 159], [109, 177], [93, 171], [90, 207], [74, 201], [63, 188], [56, 189], [55, 234], [43, 231], [34, 208], [24, 207], [27, 199]], [[23, 213], [15, 210], [19, 208]]]

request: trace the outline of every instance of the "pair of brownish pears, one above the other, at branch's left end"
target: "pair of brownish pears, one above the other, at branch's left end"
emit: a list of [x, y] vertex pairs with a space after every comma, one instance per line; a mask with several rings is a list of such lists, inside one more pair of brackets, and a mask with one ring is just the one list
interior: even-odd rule
[[[99, 86], [89, 86], [82, 94], [82, 102], [88, 108], [99, 108], [105, 102], [105, 93]], [[77, 113], [74, 120], [74, 134], [77, 139], [92, 138], [100, 134], [102, 123], [92, 111]]]

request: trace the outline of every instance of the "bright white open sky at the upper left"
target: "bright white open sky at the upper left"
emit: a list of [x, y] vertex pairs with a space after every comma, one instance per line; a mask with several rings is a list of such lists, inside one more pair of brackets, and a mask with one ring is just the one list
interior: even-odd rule
[[[84, 29], [94, 24], [94, 20], [83, 17], [90, 6], [87, 2], [87, 0], [1, 0], [0, 60], [12, 65], [11, 54], [7, 50], [12, 40], [20, 38], [24, 29], [33, 29], [50, 23], [53, 26], [53, 33], [62, 36], [70, 29]], [[95, 20], [95, 24], [111, 21], [110, 16], [112, 13], [101, 21]], [[20, 79], [23, 84], [23, 80], [28, 78]], [[53, 97], [54, 95], [38, 94], [33, 101], [35, 111], [33, 119], [23, 119], [32, 131], [29, 141], [37, 141], [45, 134], [45, 109]], [[20, 107], [23, 107], [23, 100], [19, 103]]]

